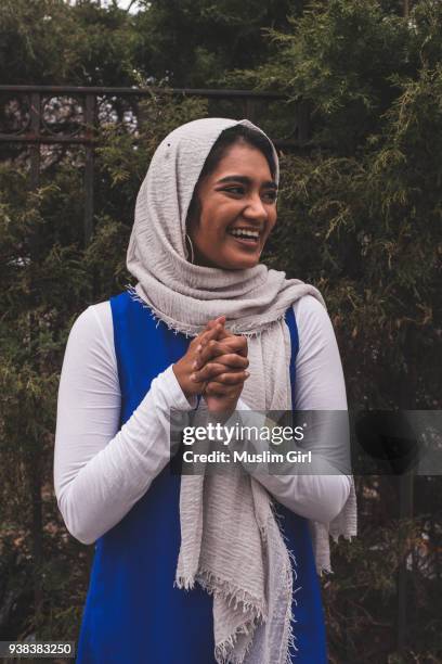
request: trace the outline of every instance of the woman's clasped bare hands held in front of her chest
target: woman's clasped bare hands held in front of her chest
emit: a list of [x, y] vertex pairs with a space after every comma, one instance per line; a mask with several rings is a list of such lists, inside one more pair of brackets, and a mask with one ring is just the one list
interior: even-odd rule
[[192, 340], [186, 354], [173, 365], [186, 398], [204, 396], [213, 413], [235, 410], [249, 376], [247, 340], [232, 334], [224, 324], [225, 316], [209, 320], [206, 329]]

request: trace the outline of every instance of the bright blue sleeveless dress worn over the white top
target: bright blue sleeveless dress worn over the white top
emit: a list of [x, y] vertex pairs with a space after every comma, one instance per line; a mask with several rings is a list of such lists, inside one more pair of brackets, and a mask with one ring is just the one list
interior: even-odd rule
[[[162, 322], [157, 324], [150, 310], [127, 292], [112, 297], [110, 306], [122, 425], [154, 378], [184, 355], [191, 340]], [[291, 308], [286, 320], [294, 391], [298, 334]], [[78, 664], [216, 664], [211, 598], [199, 586], [191, 591], [173, 587], [180, 549], [180, 482], [167, 465], [128, 514], [96, 541]], [[298, 650], [291, 661], [325, 664], [321, 587], [308, 521], [283, 506], [278, 512], [297, 561], [294, 631]]]

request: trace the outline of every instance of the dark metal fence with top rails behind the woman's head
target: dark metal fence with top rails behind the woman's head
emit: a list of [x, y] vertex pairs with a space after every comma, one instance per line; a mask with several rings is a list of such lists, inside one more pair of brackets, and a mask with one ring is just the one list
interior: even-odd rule
[[[243, 117], [256, 119], [262, 102], [287, 100], [276, 92], [250, 90], [157, 89], [161, 94], [199, 97], [211, 102], [230, 101]], [[29, 150], [30, 188], [39, 183], [42, 145], [84, 148], [84, 241], [91, 238], [94, 210], [95, 130], [109, 118], [126, 123], [129, 130], [139, 124], [139, 102], [155, 94], [155, 88], [108, 88], [69, 86], [0, 86], [0, 144], [15, 143]], [[273, 137], [272, 137], [273, 138]], [[292, 150], [308, 138], [308, 113], [296, 104], [290, 138], [274, 139], [278, 149]]]

